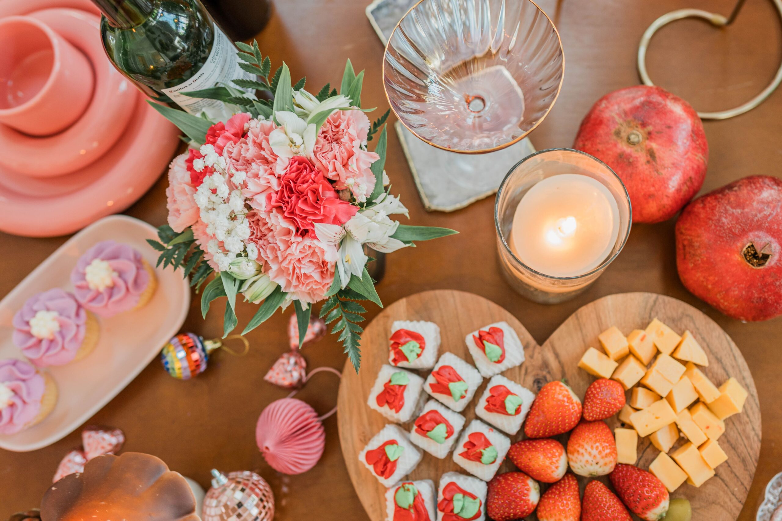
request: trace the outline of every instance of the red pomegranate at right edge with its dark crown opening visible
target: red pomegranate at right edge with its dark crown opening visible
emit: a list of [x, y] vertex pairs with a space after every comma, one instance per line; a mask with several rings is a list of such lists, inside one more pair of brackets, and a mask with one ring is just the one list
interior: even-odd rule
[[687, 205], [676, 221], [676, 268], [727, 316], [782, 315], [782, 180], [744, 177]]

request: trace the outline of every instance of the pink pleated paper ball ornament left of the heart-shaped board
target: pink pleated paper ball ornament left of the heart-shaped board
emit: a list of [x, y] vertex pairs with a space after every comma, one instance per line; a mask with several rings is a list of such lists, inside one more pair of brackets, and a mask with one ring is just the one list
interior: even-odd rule
[[310, 405], [296, 398], [282, 398], [260, 413], [255, 441], [272, 469], [300, 474], [321, 459], [326, 434]]

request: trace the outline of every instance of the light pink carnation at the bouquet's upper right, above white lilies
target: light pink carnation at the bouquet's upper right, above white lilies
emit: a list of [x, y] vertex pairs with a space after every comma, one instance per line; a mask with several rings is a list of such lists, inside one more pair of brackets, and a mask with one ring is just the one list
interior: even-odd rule
[[336, 110], [317, 133], [313, 155], [318, 170], [336, 181], [337, 190], [349, 187], [358, 201], [366, 201], [375, 188], [369, 166], [380, 159], [361, 145], [367, 141], [369, 119], [361, 110]]

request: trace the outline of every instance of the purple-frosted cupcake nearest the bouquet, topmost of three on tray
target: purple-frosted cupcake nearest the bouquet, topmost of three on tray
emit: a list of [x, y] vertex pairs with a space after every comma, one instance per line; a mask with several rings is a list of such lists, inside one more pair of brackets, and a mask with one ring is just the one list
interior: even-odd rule
[[76, 299], [103, 317], [142, 308], [157, 287], [155, 271], [127, 244], [102, 241], [81, 255], [70, 272]]

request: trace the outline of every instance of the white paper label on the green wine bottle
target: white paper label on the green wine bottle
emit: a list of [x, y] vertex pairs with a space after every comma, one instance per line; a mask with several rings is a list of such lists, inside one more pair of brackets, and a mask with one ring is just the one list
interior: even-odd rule
[[[209, 59], [206, 60], [203, 67], [195, 73], [185, 83], [178, 84], [176, 87], [164, 88], [163, 92], [171, 98], [177, 105], [191, 114], [200, 115], [206, 112], [210, 120], [228, 120], [231, 112], [225, 107], [224, 103], [217, 99], [191, 98], [186, 96], [185, 92], [200, 91], [202, 89], [217, 87], [218, 84], [230, 85], [231, 80], [253, 80], [253, 76], [239, 67], [239, 57], [236, 55], [236, 48], [231, 40], [217, 27], [214, 26], [214, 43]], [[242, 89], [245, 90], [245, 89]]]

